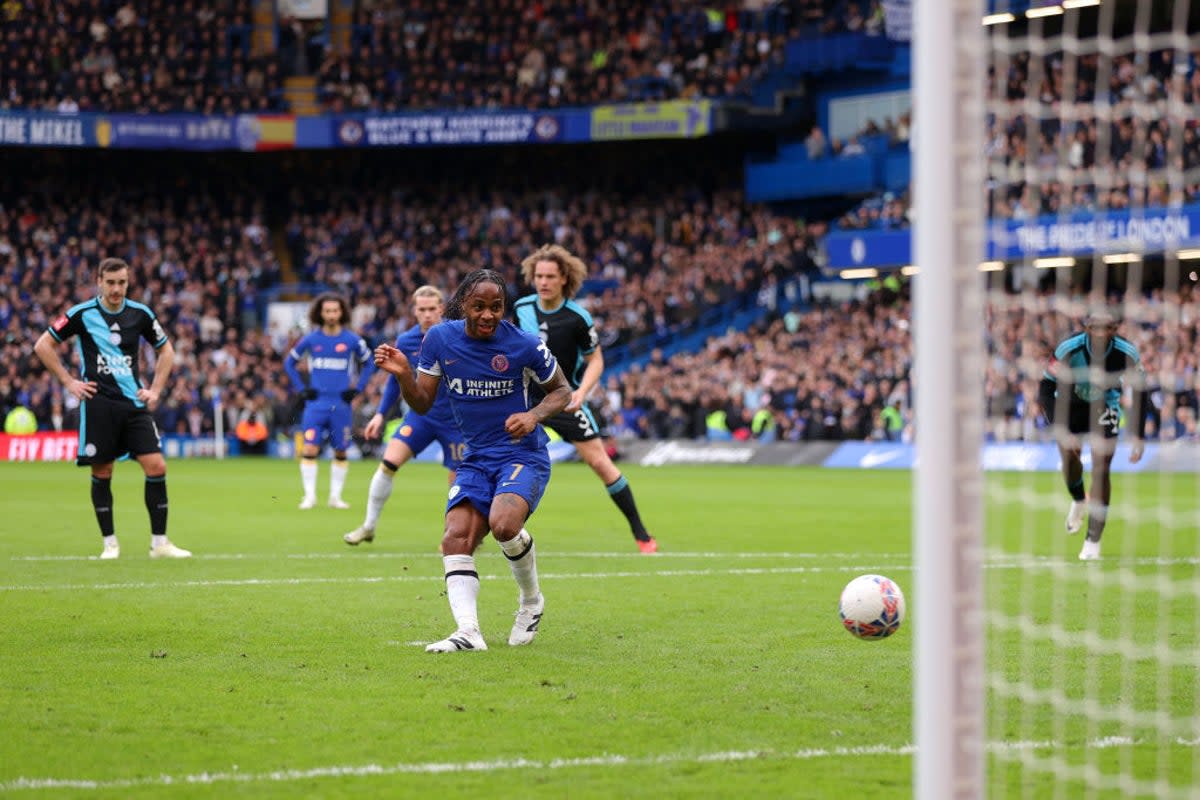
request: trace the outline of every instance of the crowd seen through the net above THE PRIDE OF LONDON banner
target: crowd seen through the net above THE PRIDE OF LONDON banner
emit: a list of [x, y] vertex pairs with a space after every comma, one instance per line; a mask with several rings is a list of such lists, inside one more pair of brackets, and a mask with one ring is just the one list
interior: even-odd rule
[[[989, 213], [1024, 219], [1068, 210], [1121, 210], [1200, 197], [1198, 56], [1018, 53], [989, 71]], [[1067, 77], [1068, 68], [1073, 73]], [[1040, 112], [1028, 113], [1030, 101]], [[1030, 174], [1036, 175], [1031, 180]], [[1172, 184], [1168, 173], [1182, 175]], [[1190, 173], [1190, 174], [1188, 174]]]

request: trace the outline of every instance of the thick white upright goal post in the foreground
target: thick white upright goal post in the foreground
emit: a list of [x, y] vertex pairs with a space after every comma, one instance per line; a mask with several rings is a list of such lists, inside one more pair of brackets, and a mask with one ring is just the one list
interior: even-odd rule
[[[913, 796], [982, 798], [983, 4], [916, 0]], [[936, 421], [936, 422], [930, 422]]]

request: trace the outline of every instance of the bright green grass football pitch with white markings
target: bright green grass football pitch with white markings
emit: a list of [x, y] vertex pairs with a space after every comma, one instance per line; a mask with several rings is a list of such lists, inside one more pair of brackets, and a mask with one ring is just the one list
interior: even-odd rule
[[[433, 655], [424, 645], [454, 628], [437, 553], [445, 473], [401, 470], [376, 542], [350, 548], [341, 535], [361, 522], [373, 468], [352, 465], [349, 511], [301, 512], [292, 462], [174, 461], [170, 537], [196, 557], [151, 561], [140, 471], [119, 464], [122, 555], [98, 561], [85, 470], [0, 464], [0, 795], [911, 795], [912, 645], [928, 599], [913, 585], [910, 474], [623, 465], [660, 542], [647, 557], [595, 476], [556, 465], [528, 525], [547, 603], [538, 638], [506, 644], [517, 590], [488, 539], [478, 567], [490, 650]], [[319, 497], [328, 480], [322, 461]], [[1062, 499], [1056, 475], [988, 482]], [[1088, 565], [1074, 561], [1078, 537], [1061, 535], [1062, 503], [990, 509], [989, 553], [1018, 552], [1030, 524], [1045, 534], [1027, 557], [989, 557], [989, 597], [1068, 628], [1100, 614], [1103, 633], [1135, 644], [1152, 643], [1169, 613], [1182, 622], [1171, 651], [1194, 651], [1194, 595], [1164, 610], [1146, 593], [1105, 599], [1111, 584], [1086, 578], [1064, 590], [1033, 569], [1195, 581], [1194, 558], [1158, 559], [1166, 533], [1152, 513], [1190, 509], [1194, 492], [1193, 476], [1117, 476], [1115, 500], [1147, 521], [1136, 537], [1111, 522], [1105, 560]], [[1194, 527], [1175, 533], [1194, 557]], [[908, 619], [890, 639], [859, 642], [839, 624], [839, 593], [864, 572], [906, 593]], [[1147, 692], [1171, 716], [1196, 708], [1187, 662], [1109, 674], [1114, 664], [1057, 663], [1072, 651], [1016, 633], [992, 631], [991, 672], [1019, 673], [1040, 654], [1048, 670], [1078, 673], [1068, 693], [1094, 680]], [[1195, 744], [1141, 736], [1097, 757], [1120, 724], [989, 702], [1007, 704], [1012, 723], [990, 747], [1040, 742], [1105, 771], [1200, 778]], [[994, 796], [1037, 796], [1037, 775], [1002, 759], [989, 769]]]

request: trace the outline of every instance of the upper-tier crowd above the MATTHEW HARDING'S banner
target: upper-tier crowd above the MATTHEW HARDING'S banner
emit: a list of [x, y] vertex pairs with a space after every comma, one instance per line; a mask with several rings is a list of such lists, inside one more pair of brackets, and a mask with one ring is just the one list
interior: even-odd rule
[[883, 32], [880, 0], [360, 0], [328, 20], [253, 17], [251, 0], [6, 0], [0, 108], [286, 110], [312, 74], [328, 110], [749, 98], [790, 40]]

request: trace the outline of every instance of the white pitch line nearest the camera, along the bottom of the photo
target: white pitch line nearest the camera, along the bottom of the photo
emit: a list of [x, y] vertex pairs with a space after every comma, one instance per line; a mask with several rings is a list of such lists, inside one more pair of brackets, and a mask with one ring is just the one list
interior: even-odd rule
[[[1126, 739], [1093, 739], [1082, 745], [1063, 745], [1057, 741], [995, 741], [989, 751], [1012, 752], [1030, 750], [1100, 750], [1111, 747], [1141, 747], [1147, 742]], [[1174, 745], [1195, 747], [1195, 740], [1176, 739]], [[856, 758], [862, 756], [911, 757], [917, 747], [906, 745], [864, 745], [860, 747], [804, 747], [793, 751], [745, 750], [713, 753], [673, 753], [664, 756], [619, 756], [604, 753], [582, 758], [554, 758], [550, 760], [515, 758], [472, 762], [426, 762], [397, 764], [340, 764], [308, 769], [272, 770], [270, 772], [241, 772], [234, 766], [221, 772], [192, 772], [187, 775], [151, 775], [133, 778], [91, 780], [56, 777], [17, 777], [0, 783], [0, 793], [38, 789], [91, 789], [112, 792], [151, 786], [212, 786], [217, 783], [288, 783], [313, 778], [388, 777], [392, 775], [454, 775], [462, 772], [499, 772], [506, 770], [565, 770], [586, 766], [661, 766], [671, 764], [721, 764], [748, 760], [815, 760], [822, 758]]]

